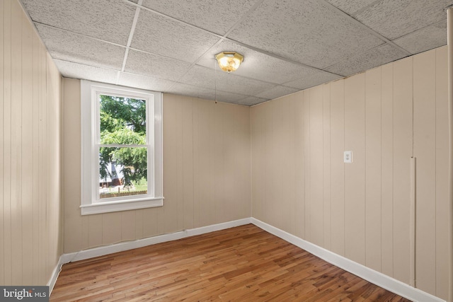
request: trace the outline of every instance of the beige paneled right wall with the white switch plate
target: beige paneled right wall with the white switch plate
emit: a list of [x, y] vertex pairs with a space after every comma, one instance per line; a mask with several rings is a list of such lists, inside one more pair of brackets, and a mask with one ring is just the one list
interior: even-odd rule
[[[447, 298], [446, 47], [251, 109], [252, 216]], [[343, 151], [353, 163], [343, 163]]]

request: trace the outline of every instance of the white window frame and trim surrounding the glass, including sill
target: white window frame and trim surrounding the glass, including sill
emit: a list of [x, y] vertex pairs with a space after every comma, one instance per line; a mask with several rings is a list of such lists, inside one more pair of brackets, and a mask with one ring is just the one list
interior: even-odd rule
[[[113, 197], [108, 200], [102, 199], [102, 201], [98, 198], [98, 185], [96, 185], [98, 181], [98, 151], [96, 148], [96, 144], [98, 144], [96, 142], [98, 102], [96, 101], [96, 94], [98, 93], [129, 95], [147, 100], [147, 121], [153, 122], [152, 125], [147, 123], [147, 141], [151, 150], [148, 153], [148, 180], [151, 180], [151, 177], [154, 180], [149, 186], [151, 190], [148, 194]], [[163, 206], [162, 110], [162, 93], [81, 80], [80, 208], [82, 215]], [[150, 117], [153, 117], [152, 120]], [[154, 173], [154, 175], [150, 175], [150, 173]]]

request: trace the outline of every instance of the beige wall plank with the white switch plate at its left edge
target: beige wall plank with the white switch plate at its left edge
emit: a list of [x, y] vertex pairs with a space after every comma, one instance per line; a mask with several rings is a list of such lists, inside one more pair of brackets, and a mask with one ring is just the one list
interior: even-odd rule
[[345, 79], [345, 255], [365, 265], [365, 74]]

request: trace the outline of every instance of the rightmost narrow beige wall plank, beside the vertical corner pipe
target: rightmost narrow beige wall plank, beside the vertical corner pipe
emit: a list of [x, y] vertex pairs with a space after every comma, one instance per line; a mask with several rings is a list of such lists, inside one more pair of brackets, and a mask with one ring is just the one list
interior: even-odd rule
[[447, 81], [447, 47], [435, 50], [435, 108], [436, 108], [436, 175], [435, 175], [435, 267], [436, 267], [436, 295], [447, 300], [448, 298], [448, 167], [445, 158], [448, 158], [448, 81]]

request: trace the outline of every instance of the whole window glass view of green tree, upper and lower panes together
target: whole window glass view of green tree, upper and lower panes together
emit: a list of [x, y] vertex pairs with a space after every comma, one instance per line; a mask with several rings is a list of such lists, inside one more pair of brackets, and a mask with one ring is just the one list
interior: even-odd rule
[[99, 96], [100, 197], [147, 194], [146, 101]]

